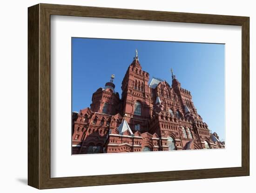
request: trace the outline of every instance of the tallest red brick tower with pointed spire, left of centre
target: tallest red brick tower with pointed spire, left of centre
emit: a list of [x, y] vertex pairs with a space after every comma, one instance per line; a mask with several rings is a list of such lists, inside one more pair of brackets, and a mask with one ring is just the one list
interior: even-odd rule
[[133, 132], [148, 131], [148, 121], [150, 120], [148, 80], [149, 74], [142, 71], [136, 50], [133, 62], [129, 65], [121, 86], [121, 112], [122, 115], [126, 114], [126, 121]]

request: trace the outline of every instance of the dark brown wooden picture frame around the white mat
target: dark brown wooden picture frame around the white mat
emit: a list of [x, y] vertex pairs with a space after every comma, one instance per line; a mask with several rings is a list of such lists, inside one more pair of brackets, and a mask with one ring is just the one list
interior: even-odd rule
[[[242, 26], [242, 167], [51, 178], [50, 16], [66, 15]], [[28, 8], [28, 185], [38, 188], [249, 175], [249, 17], [38, 4]]]

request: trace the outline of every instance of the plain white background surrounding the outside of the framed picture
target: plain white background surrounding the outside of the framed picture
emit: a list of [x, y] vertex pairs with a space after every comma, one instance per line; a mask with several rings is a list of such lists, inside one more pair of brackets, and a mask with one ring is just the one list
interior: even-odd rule
[[[78, 187], [43, 190], [41, 192], [255, 192], [256, 169], [252, 139], [253, 90], [256, 68], [253, 66], [253, 48], [256, 46], [254, 26], [256, 12], [250, 0], [23, 0], [2, 1], [0, 6], [0, 190], [1, 192], [36, 192], [27, 186], [27, 7], [37, 3], [55, 3], [82, 6], [103, 6], [159, 11], [210, 13], [250, 17], [250, 153], [249, 177], [186, 180], [157, 183], [126, 184], [101, 187]], [[254, 33], [254, 34], [253, 34]], [[234, 85], [236, 86], [236, 85]], [[238, 88], [240, 89], [240, 88]], [[235, 110], [235, 109], [234, 109]]]

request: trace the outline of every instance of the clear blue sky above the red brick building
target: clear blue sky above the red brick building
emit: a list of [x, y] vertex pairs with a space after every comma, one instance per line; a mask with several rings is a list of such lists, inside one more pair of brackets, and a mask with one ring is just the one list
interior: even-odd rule
[[92, 94], [115, 74], [115, 91], [138, 50], [142, 70], [172, 83], [170, 69], [192, 94], [209, 129], [224, 139], [224, 48], [222, 44], [72, 38], [72, 111], [90, 107]]

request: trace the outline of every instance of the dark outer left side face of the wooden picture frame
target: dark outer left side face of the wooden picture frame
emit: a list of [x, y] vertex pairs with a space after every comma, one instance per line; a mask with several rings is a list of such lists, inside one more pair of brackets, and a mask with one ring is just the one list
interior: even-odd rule
[[39, 188], [39, 5], [28, 9], [28, 180]]

